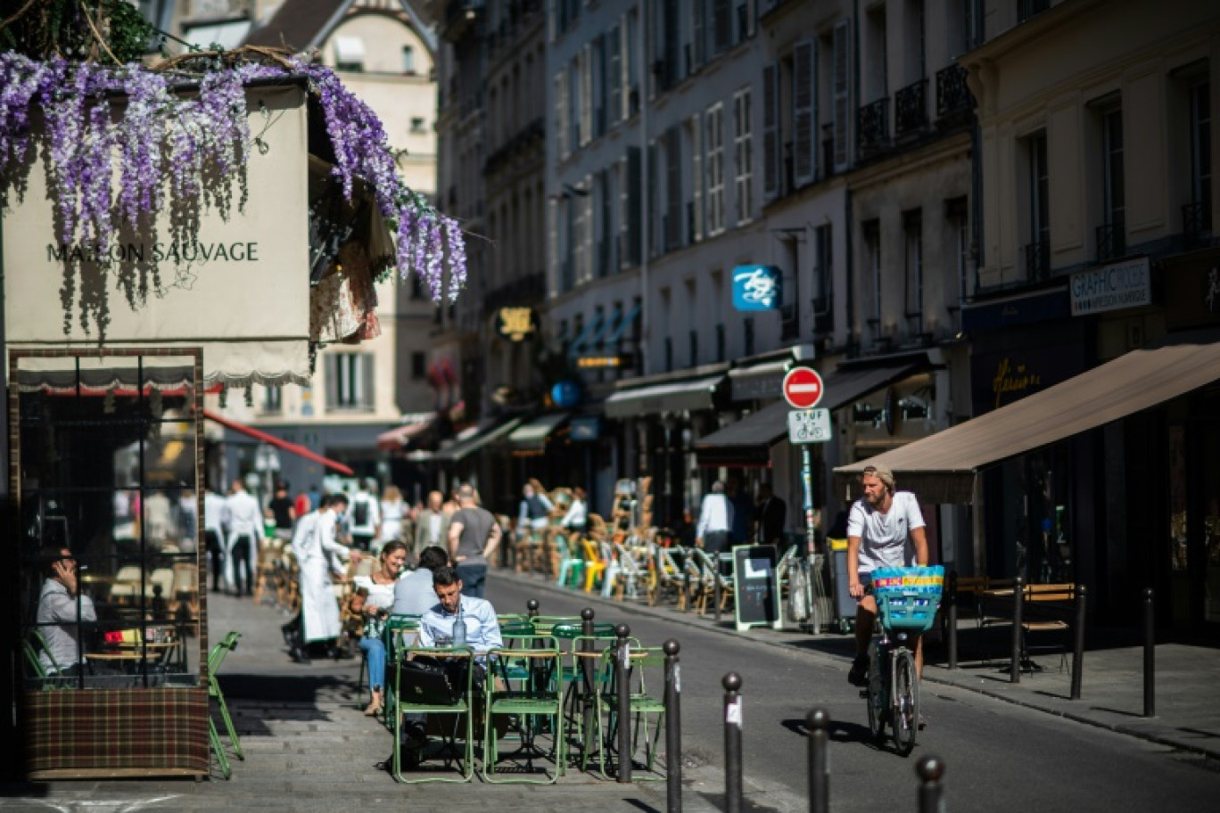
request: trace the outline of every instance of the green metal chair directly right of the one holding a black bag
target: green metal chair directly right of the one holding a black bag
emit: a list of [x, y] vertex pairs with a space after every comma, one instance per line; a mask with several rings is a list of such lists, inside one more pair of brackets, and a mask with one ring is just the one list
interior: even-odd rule
[[[521, 635], [514, 648], [494, 650], [488, 658], [487, 700], [483, 706], [483, 780], [489, 784], [551, 785], [566, 773], [566, 744], [562, 735], [564, 691], [560, 679], [561, 651], [553, 635]], [[520, 675], [520, 676], [517, 676]], [[521, 746], [501, 754], [494, 726], [497, 714], [516, 719]], [[548, 724], [549, 722], [549, 724]], [[537, 739], [550, 731], [548, 751]], [[549, 756], [555, 769], [534, 778], [534, 761]], [[499, 762], [512, 759], [516, 775], [498, 776]]]

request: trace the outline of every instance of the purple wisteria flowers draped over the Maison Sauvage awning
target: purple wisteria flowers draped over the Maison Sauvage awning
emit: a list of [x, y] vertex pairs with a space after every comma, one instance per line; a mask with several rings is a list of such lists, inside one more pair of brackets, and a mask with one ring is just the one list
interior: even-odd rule
[[[394, 224], [401, 277], [418, 274], [434, 300], [455, 299], [466, 283], [461, 228], [403, 183], [377, 115], [333, 71], [296, 57], [283, 66], [217, 67], [196, 79], [198, 93], [179, 94], [170, 77], [138, 63], [106, 67], [59, 57], [40, 62], [2, 52], [0, 193], [20, 184], [13, 176], [32, 146], [32, 116], [38, 111], [45, 122], [61, 243], [101, 246], [98, 258], [105, 261], [105, 246], [124, 229], [151, 228], [152, 216], [166, 206], [172, 238], [187, 241], [199, 227], [201, 208], [232, 215], [234, 183], [242, 184], [238, 208], [246, 202], [242, 169], [254, 144], [245, 84], [293, 76], [304, 76], [321, 104], [344, 195], [350, 200], [355, 182], [362, 182]], [[156, 268], [151, 272], [156, 285]], [[146, 295], [146, 283], [121, 282], [133, 305]], [[66, 299], [71, 301], [71, 288]], [[105, 314], [105, 304], [98, 307], [93, 304], [94, 318]], [[83, 312], [88, 329], [85, 322]]]

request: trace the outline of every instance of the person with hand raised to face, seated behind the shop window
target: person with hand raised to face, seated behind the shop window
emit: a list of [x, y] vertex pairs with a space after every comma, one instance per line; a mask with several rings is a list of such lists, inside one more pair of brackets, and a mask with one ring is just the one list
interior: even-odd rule
[[81, 623], [98, 620], [93, 600], [81, 592], [79, 570], [72, 551], [63, 547], [48, 561], [46, 580], [38, 596], [38, 622], [46, 651], [39, 653], [49, 675], [77, 675], [88, 672]]

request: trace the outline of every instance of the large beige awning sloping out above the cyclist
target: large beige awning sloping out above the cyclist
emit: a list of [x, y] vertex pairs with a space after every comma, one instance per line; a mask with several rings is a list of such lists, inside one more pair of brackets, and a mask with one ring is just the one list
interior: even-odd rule
[[1015, 403], [834, 469], [841, 488], [884, 463], [921, 502], [970, 502], [986, 466], [1096, 429], [1220, 379], [1220, 341], [1135, 350]]

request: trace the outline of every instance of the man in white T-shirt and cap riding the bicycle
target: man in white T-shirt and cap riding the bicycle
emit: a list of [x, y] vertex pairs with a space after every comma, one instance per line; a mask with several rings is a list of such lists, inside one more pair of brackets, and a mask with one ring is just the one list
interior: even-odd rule
[[[856, 601], [855, 661], [847, 679], [869, 685], [869, 640], [872, 637], [877, 602], [871, 595], [872, 570], [882, 567], [927, 564], [927, 534], [919, 500], [910, 491], [894, 490], [888, 466], [864, 469], [864, 496], [852, 505], [847, 520], [848, 591]], [[915, 670], [924, 675], [924, 637], [915, 641]]]

